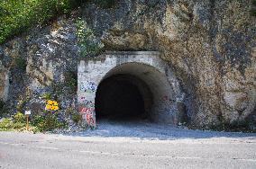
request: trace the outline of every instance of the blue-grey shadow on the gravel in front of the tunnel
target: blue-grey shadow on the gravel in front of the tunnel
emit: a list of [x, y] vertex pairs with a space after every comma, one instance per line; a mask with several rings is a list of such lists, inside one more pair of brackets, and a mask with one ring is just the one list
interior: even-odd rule
[[218, 132], [209, 130], [193, 130], [160, 125], [147, 120], [138, 121], [99, 121], [97, 129], [65, 135], [79, 137], [128, 137], [152, 140], [199, 139], [199, 138], [244, 138], [256, 139], [256, 133]]

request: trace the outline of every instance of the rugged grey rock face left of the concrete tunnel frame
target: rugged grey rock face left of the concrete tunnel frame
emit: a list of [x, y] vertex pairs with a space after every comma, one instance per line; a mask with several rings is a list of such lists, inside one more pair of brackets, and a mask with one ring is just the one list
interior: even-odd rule
[[62, 17], [1, 46], [0, 96], [13, 113], [26, 108], [40, 113], [44, 97], [55, 99], [56, 95], [63, 110], [74, 103], [76, 91], [68, 85], [73, 77], [67, 74], [77, 74], [75, 31], [74, 19]]

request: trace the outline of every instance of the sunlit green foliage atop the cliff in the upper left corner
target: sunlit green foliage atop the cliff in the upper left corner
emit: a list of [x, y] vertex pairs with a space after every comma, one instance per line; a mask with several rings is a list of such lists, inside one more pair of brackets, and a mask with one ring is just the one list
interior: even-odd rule
[[69, 13], [82, 0], [1, 0], [0, 44], [34, 24]]

